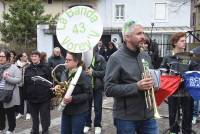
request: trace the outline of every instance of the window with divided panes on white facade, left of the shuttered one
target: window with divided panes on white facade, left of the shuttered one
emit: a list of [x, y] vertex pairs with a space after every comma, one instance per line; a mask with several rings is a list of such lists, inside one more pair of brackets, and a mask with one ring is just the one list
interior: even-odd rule
[[125, 20], [125, 5], [115, 5], [115, 20]]

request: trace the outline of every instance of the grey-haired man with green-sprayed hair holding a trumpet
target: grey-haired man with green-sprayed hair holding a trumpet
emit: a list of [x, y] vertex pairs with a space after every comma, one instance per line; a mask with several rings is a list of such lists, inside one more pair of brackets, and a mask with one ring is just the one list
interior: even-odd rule
[[142, 78], [142, 59], [152, 68], [151, 58], [140, 52], [144, 28], [128, 21], [124, 24], [124, 44], [108, 60], [105, 74], [105, 90], [114, 98], [114, 125], [117, 134], [158, 134], [154, 110], [147, 108], [145, 91], [153, 86], [152, 78]]

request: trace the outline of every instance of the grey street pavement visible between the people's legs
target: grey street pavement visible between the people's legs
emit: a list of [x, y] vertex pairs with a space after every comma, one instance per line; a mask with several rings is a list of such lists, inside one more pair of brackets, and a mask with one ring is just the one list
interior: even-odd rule
[[[102, 134], [116, 134], [116, 130], [113, 126], [112, 118], [112, 105], [113, 99], [104, 97], [103, 101], [103, 116], [102, 116]], [[162, 104], [159, 108], [159, 113], [163, 117], [158, 120], [160, 134], [163, 134], [166, 129], [169, 128], [168, 125], [168, 111], [167, 104]], [[51, 111], [51, 126], [50, 134], [60, 134], [60, 117], [61, 113], [55, 108]], [[193, 130], [196, 134], [200, 134], [200, 123], [193, 126]], [[24, 118], [17, 120], [16, 134], [29, 134], [31, 131], [31, 120], [25, 120]], [[41, 131], [41, 126], [40, 126]], [[89, 134], [94, 134], [94, 128], [91, 129]]]

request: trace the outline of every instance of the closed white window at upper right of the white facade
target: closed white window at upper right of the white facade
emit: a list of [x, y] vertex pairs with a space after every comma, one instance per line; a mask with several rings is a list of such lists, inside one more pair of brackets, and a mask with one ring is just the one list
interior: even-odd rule
[[167, 3], [155, 3], [154, 19], [160, 21], [167, 20]]

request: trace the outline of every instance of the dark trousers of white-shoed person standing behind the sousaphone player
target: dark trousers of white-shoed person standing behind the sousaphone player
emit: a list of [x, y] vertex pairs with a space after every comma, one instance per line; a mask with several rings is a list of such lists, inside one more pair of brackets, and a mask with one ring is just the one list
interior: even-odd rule
[[91, 127], [92, 124], [92, 102], [94, 100], [94, 127], [101, 127], [102, 119], [102, 90], [93, 90], [93, 98], [89, 101], [89, 112], [86, 117], [86, 126]]

